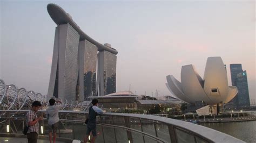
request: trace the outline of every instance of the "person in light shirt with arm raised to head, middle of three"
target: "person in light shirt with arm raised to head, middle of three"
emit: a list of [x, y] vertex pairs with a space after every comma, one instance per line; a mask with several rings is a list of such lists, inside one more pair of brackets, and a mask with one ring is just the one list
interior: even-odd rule
[[59, 123], [59, 110], [63, 108], [62, 102], [55, 101], [51, 98], [49, 100], [50, 106], [46, 109], [46, 117], [48, 118], [48, 130], [49, 130], [49, 141], [52, 143], [52, 131], [53, 131], [53, 143], [56, 142], [57, 129]]

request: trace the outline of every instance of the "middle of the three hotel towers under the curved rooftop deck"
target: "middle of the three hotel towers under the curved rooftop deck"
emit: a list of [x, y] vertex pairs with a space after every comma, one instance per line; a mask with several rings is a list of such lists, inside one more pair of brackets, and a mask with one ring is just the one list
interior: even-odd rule
[[82, 77], [78, 77], [80, 101], [96, 95], [97, 52], [97, 47], [91, 42], [79, 42], [79, 77]]

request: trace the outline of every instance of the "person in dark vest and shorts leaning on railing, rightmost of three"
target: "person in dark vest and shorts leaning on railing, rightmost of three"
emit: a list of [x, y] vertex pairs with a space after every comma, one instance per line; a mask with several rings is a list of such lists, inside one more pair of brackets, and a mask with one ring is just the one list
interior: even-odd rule
[[90, 133], [92, 133], [92, 139], [91, 142], [94, 143], [97, 132], [96, 132], [96, 116], [97, 114], [104, 113], [102, 109], [98, 108], [98, 99], [92, 99], [92, 106], [89, 108], [89, 115], [88, 115], [88, 123], [87, 123], [87, 131], [86, 131], [86, 136], [84, 138], [84, 142], [87, 142], [88, 137]]

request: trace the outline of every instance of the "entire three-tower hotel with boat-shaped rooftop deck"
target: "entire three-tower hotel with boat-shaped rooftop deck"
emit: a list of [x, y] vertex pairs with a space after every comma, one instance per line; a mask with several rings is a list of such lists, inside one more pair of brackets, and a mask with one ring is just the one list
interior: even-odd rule
[[116, 49], [85, 34], [60, 6], [47, 10], [57, 24], [48, 95], [84, 101], [116, 92]]

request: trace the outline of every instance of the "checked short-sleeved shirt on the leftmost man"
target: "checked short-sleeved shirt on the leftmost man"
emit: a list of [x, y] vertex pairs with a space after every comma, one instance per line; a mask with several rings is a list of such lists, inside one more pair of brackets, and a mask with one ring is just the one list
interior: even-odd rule
[[[30, 121], [33, 121], [34, 119], [35, 120], [37, 119], [37, 115], [36, 115], [35, 111], [30, 110], [28, 113], [26, 113], [26, 125], [27, 126], [28, 126], [28, 123]], [[39, 123], [38, 123], [38, 121], [37, 121], [37, 123], [35, 125], [29, 126], [28, 133], [31, 133], [31, 132], [39, 133]]]

